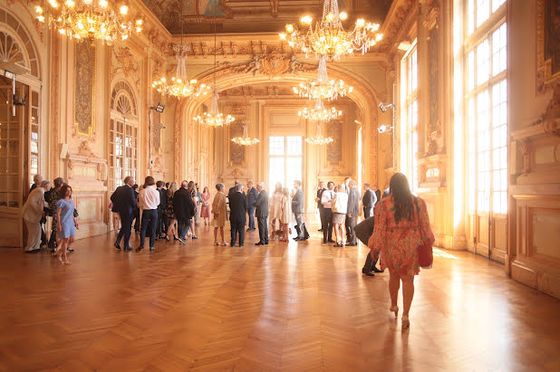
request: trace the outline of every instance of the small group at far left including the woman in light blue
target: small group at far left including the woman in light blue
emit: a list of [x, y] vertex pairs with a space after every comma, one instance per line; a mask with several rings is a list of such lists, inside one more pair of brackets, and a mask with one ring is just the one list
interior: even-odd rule
[[[78, 211], [72, 201], [72, 186], [62, 177], [50, 181], [35, 175], [34, 184], [24, 204], [23, 217], [27, 227], [25, 253], [39, 253], [41, 248], [51, 248], [53, 256], [63, 264], [71, 264], [67, 253], [73, 252], [70, 244], [78, 228]], [[47, 217], [51, 217], [51, 233], [47, 240]]]

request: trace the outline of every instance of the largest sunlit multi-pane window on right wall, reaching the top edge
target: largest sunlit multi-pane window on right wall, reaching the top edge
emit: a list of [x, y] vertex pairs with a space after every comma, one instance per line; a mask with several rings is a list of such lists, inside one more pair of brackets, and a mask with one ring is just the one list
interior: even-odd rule
[[[468, 208], [507, 214], [505, 0], [468, 0], [465, 105]], [[497, 11], [500, 14], [493, 16]], [[477, 32], [477, 33], [475, 33]]]

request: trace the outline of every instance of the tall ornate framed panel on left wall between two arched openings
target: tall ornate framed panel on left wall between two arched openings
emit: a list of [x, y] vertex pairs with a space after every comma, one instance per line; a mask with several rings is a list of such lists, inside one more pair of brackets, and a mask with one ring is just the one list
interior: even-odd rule
[[78, 134], [92, 137], [95, 119], [95, 47], [75, 43], [74, 126]]

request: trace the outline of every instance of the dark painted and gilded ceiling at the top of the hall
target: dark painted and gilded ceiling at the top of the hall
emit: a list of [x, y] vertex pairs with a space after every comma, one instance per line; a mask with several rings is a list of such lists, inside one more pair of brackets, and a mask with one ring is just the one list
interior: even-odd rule
[[[142, 0], [170, 33], [279, 32], [303, 14], [320, 16], [322, 0]], [[341, 10], [382, 23], [391, 0], [339, 0]], [[349, 21], [351, 22], [352, 19]]]

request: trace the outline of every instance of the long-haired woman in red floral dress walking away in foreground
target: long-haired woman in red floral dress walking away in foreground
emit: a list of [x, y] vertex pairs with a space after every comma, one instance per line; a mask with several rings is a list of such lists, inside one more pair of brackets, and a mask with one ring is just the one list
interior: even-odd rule
[[389, 268], [391, 311], [399, 315], [397, 297], [402, 281], [402, 329], [410, 326], [409, 310], [414, 296], [414, 275], [420, 272], [418, 246], [432, 244], [434, 236], [426, 203], [412, 196], [409, 181], [402, 173], [391, 176], [391, 194], [375, 206], [375, 227], [368, 245], [374, 257], [381, 252], [381, 270]]

